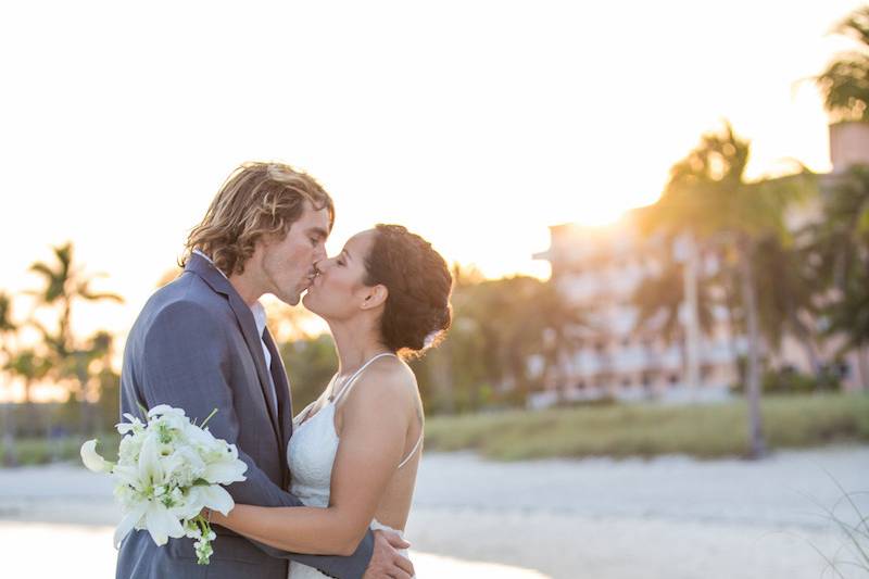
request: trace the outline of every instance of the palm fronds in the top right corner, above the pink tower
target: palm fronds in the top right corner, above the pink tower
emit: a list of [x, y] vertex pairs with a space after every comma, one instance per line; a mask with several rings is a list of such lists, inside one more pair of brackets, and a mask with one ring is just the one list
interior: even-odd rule
[[836, 121], [869, 121], [869, 5], [859, 8], [835, 32], [857, 41], [857, 49], [840, 54], [815, 80], [824, 108]]

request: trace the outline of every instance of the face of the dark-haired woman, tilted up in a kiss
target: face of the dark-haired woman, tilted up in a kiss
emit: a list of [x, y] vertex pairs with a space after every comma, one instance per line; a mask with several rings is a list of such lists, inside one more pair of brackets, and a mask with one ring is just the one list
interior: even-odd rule
[[341, 253], [316, 263], [317, 277], [302, 303], [326, 320], [347, 319], [356, 314], [370, 295], [365, 286], [365, 259], [374, 244], [376, 231], [368, 229], [351, 237]]

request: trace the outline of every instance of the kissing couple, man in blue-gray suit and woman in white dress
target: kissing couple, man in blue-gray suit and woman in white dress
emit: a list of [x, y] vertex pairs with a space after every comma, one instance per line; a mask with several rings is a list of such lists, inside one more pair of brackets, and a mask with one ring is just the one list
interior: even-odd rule
[[[159, 289], [124, 350], [121, 412], [168, 404], [238, 448], [247, 480], [209, 512], [211, 564], [191, 539], [124, 539], [118, 579], [414, 576], [404, 540], [424, 413], [406, 360], [449, 329], [452, 277], [429, 242], [378, 225], [326, 255], [332, 199], [311, 176], [247, 163], [187, 240], [184, 273]], [[329, 326], [338, 372], [293, 415], [260, 298], [302, 304]], [[304, 298], [302, 294], [304, 293]]]

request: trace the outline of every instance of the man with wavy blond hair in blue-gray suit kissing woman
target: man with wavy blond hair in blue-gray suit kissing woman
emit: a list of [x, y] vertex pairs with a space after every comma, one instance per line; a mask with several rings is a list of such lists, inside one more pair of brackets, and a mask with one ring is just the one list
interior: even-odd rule
[[[310, 176], [281, 164], [244, 164], [215, 197], [187, 241], [184, 273], [158, 290], [130, 330], [121, 375], [121, 412], [169, 404], [237, 444], [247, 480], [227, 487], [237, 503], [300, 506], [287, 492], [292, 406], [287, 375], [257, 301], [273, 293], [295, 305], [326, 256], [332, 200]], [[147, 531], [121, 544], [117, 579], [287, 579], [292, 558], [343, 578], [410, 577], [398, 534], [370, 531], [348, 557], [300, 555], [223, 527], [207, 566], [190, 539], [158, 547]]]

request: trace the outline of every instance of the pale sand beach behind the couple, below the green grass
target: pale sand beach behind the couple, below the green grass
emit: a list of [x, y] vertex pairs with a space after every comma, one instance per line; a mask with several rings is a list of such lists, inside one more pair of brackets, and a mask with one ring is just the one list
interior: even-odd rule
[[[467, 564], [450, 572], [461, 577], [817, 579], [832, 575], [815, 549], [833, 556], [845, 542], [822, 508], [841, 498], [830, 476], [848, 491], [867, 491], [867, 446], [781, 452], [756, 463], [493, 463], [429, 453], [407, 536], [429, 576], [455, 558], [538, 571], [477, 572]], [[0, 544], [41, 541], [63, 525], [110, 536], [118, 518], [110, 488], [75, 465], [0, 470]], [[869, 513], [869, 495], [855, 499]], [[847, 516], [842, 506], [837, 513]]]

